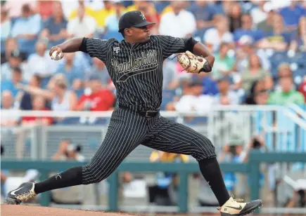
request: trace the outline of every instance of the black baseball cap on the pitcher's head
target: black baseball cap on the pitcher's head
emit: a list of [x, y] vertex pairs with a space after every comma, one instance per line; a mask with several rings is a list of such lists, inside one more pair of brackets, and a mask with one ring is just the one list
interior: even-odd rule
[[154, 22], [148, 22], [141, 11], [129, 11], [121, 16], [119, 20], [119, 31], [130, 27], [144, 27], [147, 25], [153, 25]]

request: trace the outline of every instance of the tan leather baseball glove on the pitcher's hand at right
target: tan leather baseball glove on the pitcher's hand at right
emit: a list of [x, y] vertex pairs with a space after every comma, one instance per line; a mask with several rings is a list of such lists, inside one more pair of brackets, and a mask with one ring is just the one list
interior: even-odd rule
[[208, 73], [212, 71], [212, 67], [210, 67], [208, 60], [201, 56], [196, 56], [189, 51], [177, 55], [177, 61], [188, 73], [200, 74], [200, 72]]

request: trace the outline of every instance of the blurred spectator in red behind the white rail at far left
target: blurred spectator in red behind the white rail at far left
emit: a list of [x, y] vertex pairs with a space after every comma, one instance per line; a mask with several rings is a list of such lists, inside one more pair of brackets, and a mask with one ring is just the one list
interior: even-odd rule
[[[43, 96], [36, 95], [32, 97], [33, 111], [47, 111], [50, 109], [46, 108], [46, 99]], [[51, 125], [53, 119], [49, 116], [23, 116], [21, 123], [23, 126], [35, 125], [35, 126], [49, 126]]]

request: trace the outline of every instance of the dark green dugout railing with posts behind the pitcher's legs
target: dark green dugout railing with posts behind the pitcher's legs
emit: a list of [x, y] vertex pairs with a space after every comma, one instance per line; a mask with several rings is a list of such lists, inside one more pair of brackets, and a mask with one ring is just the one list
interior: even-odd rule
[[[274, 162], [303, 162], [306, 163], [306, 153], [261, 153], [251, 151], [248, 163], [220, 163], [223, 172], [246, 173], [250, 175], [250, 198], [260, 198], [260, 163]], [[1, 169], [27, 170], [37, 169], [41, 173], [41, 180], [45, 180], [48, 173], [54, 170], [67, 170], [85, 163], [62, 161], [1, 161]], [[129, 172], [172, 172], [179, 175], [179, 212], [188, 212], [188, 175], [199, 173], [198, 163], [129, 163], [123, 162], [115, 172], [108, 177], [110, 184], [108, 191], [108, 210], [118, 210], [118, 173]], [[40, 205], [48, 206], [49, 192], [43, 193]]]

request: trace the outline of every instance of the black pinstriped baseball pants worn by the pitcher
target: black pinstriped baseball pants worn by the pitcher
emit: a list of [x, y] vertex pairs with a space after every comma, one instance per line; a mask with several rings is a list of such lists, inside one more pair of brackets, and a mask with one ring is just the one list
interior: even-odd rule
[[91, 162], [82, 168], [82, 184], [106, 179], [139, 144], [176, 154], [191, 155], [200, 161], [215, 157], [215, 147], [195, 130], [158, 114], [152, 118], [117, 108], [108, 132]]

